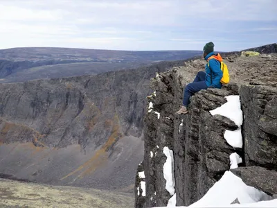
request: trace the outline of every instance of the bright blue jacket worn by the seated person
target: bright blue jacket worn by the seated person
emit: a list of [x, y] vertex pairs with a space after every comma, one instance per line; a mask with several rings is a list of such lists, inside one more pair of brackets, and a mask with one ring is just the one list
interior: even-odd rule
[[[205, 60], [208, 60], [212, 55], [215, 55], [215, 53], [211, 52], [206, 55]], [[208, 67], [208, 64], [210, 67]], [[213, 86], [216, 88], [221, 88], [222, 83], [220, 83], [220, 80], [222, 79], [223, 73], [222, 70], [220, 69], [220, 62], [218, 60], [215, 60], [214, 58], [209, 60], [208, 63], [206, 64], [205, 67], [206, 71], [206, 85], [208, 87]], [[212, 73], [212, 82], [211, 83], [211, 73]]]

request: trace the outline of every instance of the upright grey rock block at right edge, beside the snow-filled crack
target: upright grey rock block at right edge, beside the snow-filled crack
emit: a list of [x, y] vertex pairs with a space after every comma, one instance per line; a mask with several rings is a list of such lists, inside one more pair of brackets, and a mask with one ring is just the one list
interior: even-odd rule
[[277, 168], [277, 88], [244, 85], [240, 98], [247, 166]]

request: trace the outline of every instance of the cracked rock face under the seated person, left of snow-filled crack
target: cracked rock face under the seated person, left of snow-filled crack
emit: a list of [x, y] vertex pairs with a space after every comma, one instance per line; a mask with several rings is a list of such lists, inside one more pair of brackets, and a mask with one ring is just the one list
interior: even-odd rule
[[[176, 132], [179, 139], [174, 139], [173, 149], [175, 166], [179, 169], [175, 172], [179, 179], [177, 205], [190, 205], [202, 198], [229, 169], [229, 155], [235, 150], [223, 135], [226, 127], [237, 129], [238, 126], [223, 116], [213, 118], [208, 111], [226, 103], [224, 96], [231, 94], [237, 92], [226, 89], [199, 92], [191, 99], [189, 113], [180, 116], [184, 128]], [[237, 152], [240, 154], [240, 150]]]

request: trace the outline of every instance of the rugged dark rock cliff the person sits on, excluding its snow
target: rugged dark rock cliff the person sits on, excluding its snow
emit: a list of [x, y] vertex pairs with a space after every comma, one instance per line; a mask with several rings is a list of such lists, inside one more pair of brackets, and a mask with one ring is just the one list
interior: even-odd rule
[[[203, 71], [206, 62], [190, 60], [184, 67], [174, 67], [152, 79], [155, 94], [148, 97], [152, 109], [145, 114], [145, 154], [138, 168], [145, 177], [136, 175], [136, 207], [166, 206], [171, 198], [163, 177], [164, 147], [174, 154], [177, 205], [190, 205], [202, 198], [229, 170], [231, 153], [242, 157], [240, 166], [249, 167], [233, 173], [271, 196], [277, 193], [274, 180], [269, 180], [277, 177], [277, 55], [246, 58], [229, 54], [224, 62], [232, 83], [195, 94], [186, 115], [174, 115], [181, 105], [184, 85], [197, 71]], [[240, 95], [243, 148], [233, 148], [223, 137], [225, 130], [237, 130], [238, 126], [209, 112], [226, 103], [229, 95]]]

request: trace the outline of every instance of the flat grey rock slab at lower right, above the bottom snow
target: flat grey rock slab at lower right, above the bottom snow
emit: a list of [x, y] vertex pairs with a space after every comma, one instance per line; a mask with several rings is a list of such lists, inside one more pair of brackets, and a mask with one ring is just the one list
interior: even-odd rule
[[249, 166], [231, 169], [231, 172], [242, 179], [248, 186], [265, 193], [277, 193], [277, 172], [260, 166]]

